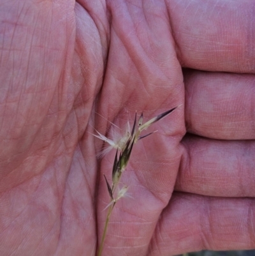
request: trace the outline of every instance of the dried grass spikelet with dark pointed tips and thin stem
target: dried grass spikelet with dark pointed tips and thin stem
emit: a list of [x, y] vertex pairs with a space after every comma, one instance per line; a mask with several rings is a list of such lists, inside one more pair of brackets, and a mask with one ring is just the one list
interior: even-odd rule
[[143, 139], [143, 138], [151, 135], [152, 133], [154, 133], [154, 132], [150, 132], [145, 135], [141, 135], [143, 130], [146, 130], [147, 128], [149, 128], [150, 125], [152, 125], [152, 124], [156, 123], [157, 121], [163, 119], [164, 117], [168, 116], [168, 114], [173, 112], [173, 110], [175, 110], [176, 108], [177, 107], [170, 109], [166, 112], [163, 112], [162, 114], [159, 114], [158, 116], [150, 119], [149, 121], [147, 121], [144, 124], [143, 124], [143, 113], [139, 117], [138, 121], [137, 121], [137, 117], [135, 114], [135, 120], [134, 120], [132, 129], [130, 128], [130, 125], [128, 123], [126, 132], [124, 133], [124, 135], [122, 135], [122, 137], [120, 136], [119, 139], [108, 139], [107, 137], [105, 137], [104, 135], [102, 135], [101, 133], [96, 131], [98, 134], [94, 135], [94, 136], [97, 137], [98, 139], [103, 140], [104, 142], [106, 142], [106, 144], [109, 145], [108, 151], [110, 151], [111, 149], [116, 149], [115, 158], [114, 158], [114, 162], [113, 162], [113, 168], [112, 168], [112, 184], [111, 185], [108, 183], [108, 181], [105, 177], [105, 174], [104, 174], [107, 190], [108, 190], [108, 193], [110, 196], [110, 203], [106, 206], [106, 208], [108, 208], [108, 214], [106, 216], [105, 228], [103, 230], [103, 236], [101, 239], [101, 244], [99, 246], [98, 256], [101, 256], [101, 253], [103, 251], [103, 244], [105, 241], [106, 230], [108, 227], [108, 222], [110, 220], [110, 215], [112, 213], [113, 207], [115, 206], [117, 201], [119, 199], [121, 199], [122, 197], [124, 197], [124, 195], [128, 191], [128, 186], [124, 185], [119, 190], [119, 192], [115, 193], [116, 189], [118, 190], [120, 177], [122, 176], [122, 173], [124, 172], [124, 170], [126, 169], [126, 167], [128, 165], [129, 158], [131, 156], [131, 152], [132, 152], [134, 144], [136, 144], [136, 142], [138, 142], [138, 140]]

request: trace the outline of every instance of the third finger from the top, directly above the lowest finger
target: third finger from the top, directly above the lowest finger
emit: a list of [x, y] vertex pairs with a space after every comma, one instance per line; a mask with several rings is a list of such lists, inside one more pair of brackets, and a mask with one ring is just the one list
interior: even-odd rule
[[255, 197], [255, 141], [185, 137], [175, 190], [218, 197]]

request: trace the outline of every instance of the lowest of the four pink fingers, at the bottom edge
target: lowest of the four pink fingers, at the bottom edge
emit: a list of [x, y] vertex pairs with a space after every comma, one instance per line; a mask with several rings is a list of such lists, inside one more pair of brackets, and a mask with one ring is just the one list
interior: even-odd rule
[[255, 200], [175, 193], [157, 223], [150, 256], [255, 246]]

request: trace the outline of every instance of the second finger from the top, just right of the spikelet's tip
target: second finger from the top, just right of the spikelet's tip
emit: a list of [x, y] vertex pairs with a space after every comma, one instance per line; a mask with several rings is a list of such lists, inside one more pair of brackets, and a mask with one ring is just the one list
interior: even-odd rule
[[213, 139], [255, 139], [255, 76], [187, 70], [187, 131]]

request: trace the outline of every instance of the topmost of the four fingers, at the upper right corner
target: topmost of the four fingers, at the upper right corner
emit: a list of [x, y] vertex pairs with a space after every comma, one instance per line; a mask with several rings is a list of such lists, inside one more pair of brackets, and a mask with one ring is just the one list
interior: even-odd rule
[[254, 73], [254, 1], [167, 1], [182, 66]]

